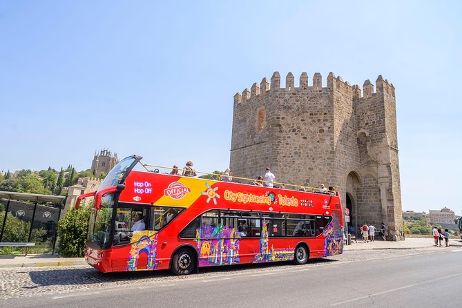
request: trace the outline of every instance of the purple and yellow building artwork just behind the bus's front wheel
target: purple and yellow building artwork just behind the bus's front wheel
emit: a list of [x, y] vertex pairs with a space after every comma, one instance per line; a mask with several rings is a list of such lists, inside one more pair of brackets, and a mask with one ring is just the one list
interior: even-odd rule
[[196, 231], [199, 266], [230, 265], [240, 262], [240, 236], [234, 228], [205, 225]]

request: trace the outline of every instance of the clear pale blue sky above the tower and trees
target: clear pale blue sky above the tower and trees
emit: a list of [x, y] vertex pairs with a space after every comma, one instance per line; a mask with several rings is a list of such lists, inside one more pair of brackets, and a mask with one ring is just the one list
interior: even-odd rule
[[[278, 70], [396, 87], [403, 209], [462, 213], [459, 1], [0, 0], [0, 170], [95, 150], [229, 164], [233, 95]], [[282, 81], [284, 86], [284, 81]]]

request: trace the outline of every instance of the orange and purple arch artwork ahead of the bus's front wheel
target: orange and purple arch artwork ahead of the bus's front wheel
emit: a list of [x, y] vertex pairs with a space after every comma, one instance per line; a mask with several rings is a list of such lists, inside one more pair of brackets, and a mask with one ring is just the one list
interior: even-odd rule
[[[133, 244], [131, 244], [130, 254], [128, 255], [127, 271], [144, 271], [157, 269], [157, 233], [155, 231], [135, 231], [133, 232]], [[139, 258], [146, 253], [146, 268], [137, 267]]]

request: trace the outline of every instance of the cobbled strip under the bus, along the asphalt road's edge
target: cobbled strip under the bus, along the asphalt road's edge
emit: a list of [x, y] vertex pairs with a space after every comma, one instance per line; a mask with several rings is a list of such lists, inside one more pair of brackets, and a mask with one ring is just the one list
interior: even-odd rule
[[[400, 258], [418, 253], [439, 253], [453, 248], [429, 247], [410, 250], [346, 251], [343, 255], [311, 260], [303, 267], [325, 267], [345, 262], [360, 262], [382, 258]], [[291, 262], [269, 264], [242, 264], [226, 267], [200, 269], [199, 274], [173, 276], [169, 271], [139, 271], [131, 273], [100, 273], [89, 266], [12, 268], [0, 269], [0, 298], [17, 298], [41, 294], [68, 293], [86, 289], [101, 289], [123, 285], [146, 285], [153, 282], [175, 282], [179, 280], [200, 280], [204, 278], [247, 275], [258, 271], [284, 271], [293, 269]]]

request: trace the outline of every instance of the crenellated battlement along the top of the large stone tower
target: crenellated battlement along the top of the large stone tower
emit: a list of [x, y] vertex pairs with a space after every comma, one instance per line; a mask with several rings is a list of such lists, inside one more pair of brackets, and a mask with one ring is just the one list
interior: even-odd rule
[[374, 92], [374, 85], [369, 79], [364, 81], [363, 90], [358, 84], [353, 86], [348, 81], [343, 81], [341, 76], [337, 76], [330, 72], [327, 76], [326, 86], [323, 87], [323, 77], [320, 73], [314, 73], [311, 85], [308, 81], [309, 77], [306, 72], [300, 75], [298, 86], [295, 84], [295, 77], [291, 72], [287, 73], [285, 78], [285, 88], [281, 88], [281, 78], [279, 72], [274, 72], [271, 76], [270, 82], [267, 77], [264, 77], [260, 84], [255, 82], [251, 89], [245, 88], [242, 93], [234, 95], [234, 103], [240, 104], [247, 102], [253, 97], [260, 97], [267, 95], [267, 93], [275, 93], [278, 91], [339, 91], [352, 99], [368, 99], [374, 95], [389, 95], [394, 97], [394, 86], [390, 84], [387, 79], [383, 79], [382, 75], [378, 75], [376, 79], [376, 91]]

